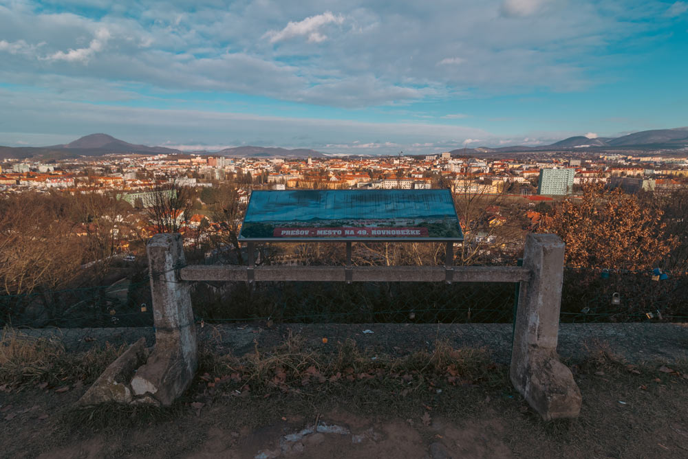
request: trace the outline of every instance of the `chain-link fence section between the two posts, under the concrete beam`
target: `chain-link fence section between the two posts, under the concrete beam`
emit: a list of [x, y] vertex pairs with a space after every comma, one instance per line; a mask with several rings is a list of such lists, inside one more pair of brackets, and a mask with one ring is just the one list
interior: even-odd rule
[[208, 323], [508, 323], [515, 288], [487, 282], [197, 282], [192, 302]]

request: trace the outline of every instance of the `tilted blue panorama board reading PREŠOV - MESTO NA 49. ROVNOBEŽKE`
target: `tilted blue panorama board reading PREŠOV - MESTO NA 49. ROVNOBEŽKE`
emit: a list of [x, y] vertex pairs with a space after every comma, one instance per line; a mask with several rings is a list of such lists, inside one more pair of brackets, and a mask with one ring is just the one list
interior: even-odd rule
[[449, 190], [289, 190], [251, 194], [242, 239], [463, 238]]

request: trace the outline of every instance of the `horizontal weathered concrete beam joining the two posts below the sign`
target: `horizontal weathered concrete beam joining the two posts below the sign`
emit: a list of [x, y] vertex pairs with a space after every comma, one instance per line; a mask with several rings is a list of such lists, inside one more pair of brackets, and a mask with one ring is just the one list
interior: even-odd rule
[[[520, 282], [530, 271], [519, 266], [365, 266], [352, 268], [352, 282]], [[191, 265], [180, 269], [181, 280], [248, 281], [248, 267]], [[343, 266], [259, 266], [253, 278], [261, 281], [345, 282]]]

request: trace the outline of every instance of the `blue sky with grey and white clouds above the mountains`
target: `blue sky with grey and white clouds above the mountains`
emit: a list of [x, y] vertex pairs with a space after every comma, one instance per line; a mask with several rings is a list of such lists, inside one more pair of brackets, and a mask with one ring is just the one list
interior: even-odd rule
[[688, 0], [0, 0], [0, 145], [435, 153], [688, 126]]

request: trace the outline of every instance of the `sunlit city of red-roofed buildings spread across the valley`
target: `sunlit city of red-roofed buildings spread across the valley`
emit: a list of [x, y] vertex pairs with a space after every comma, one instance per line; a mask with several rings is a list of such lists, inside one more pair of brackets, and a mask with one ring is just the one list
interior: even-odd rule
[[[83, 139], [88, 139], [87, 136]], [[83, 142], [79, 139], [77, 142]], [[116, 140], [116, 139], [115, 139]], [[121, 141], [118, 141], [121, 142]], [[109, 227], [113, 254], [142, 256], [142, 235], [157, 232], [147, 209], [156, 194], [169, 186], [193, 190], [194, 202], [184, 216], [176, 216], [186, 245], [209, 242], [214, 232], [238, 227], [253, 190], [430, 190], [449, 189], [456, 199], [480, 197], [485, 205], [480, 222], [466, 227], [467, 214], [460, 214], [468, 234], [492, 240], [499, 247], [493, 227], [519, 221], [523, 240], [539, 225], [547, 212], [562, 199], [579, 199], [586, 185], [602, 184], [627, 194], [649, 193], [669, 197], [688, 186], [688, 153], [684, 149], [608, 150], [561, 148], [519, 149], [512, 152], [453, 150], [426, 155], [336, 156], [314, 150], [303, 158], [227, 157], [213, 153], [122, 153], [107, 150], [99, 156], [43, 160], [6, 157], [1, 163], [0, 191], [4, 195], [39, 193], [99, 194], [127, 207], [107, 216], [120, 225]], [[306, 153], [308, 155], [308, 153]], [[236, 199], [233, 221], [217, 221], [213, 189], [229, 186]], [[204, 189], [206, 189], [204, 191]], [[206, 201], [204, 201], [206, 199]], [[545, 205], [545, 207], [543, 207]], [[508, 216], [508, 218], [507, 218]], [[102, 221], [102, 219], [100, 220]], [[203, 223], [203, 225], [201, 225]], [[96, 221], [90, 225], [98, 225]], [[109, 225], [109, 223], [108, 223]], [[86, 234], [83, 224], [72, 229]], [[133, 244], [131, 244], [133, 243]], [[135, 247], [138, 249], [135, 250]], [[207, 248], [207, 250], [213, 250]], [[96, 258], [97, 259], [97, 258]], [[92, 262], [94, 260], [83, 260]]]

